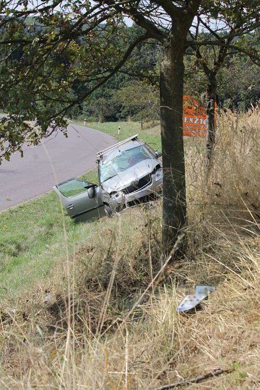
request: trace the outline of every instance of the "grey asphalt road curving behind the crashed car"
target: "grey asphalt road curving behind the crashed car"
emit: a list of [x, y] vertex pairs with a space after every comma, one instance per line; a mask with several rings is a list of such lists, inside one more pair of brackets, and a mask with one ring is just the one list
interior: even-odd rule
[[[115, 139], [98, 130], [69, 125], [68, 138], [57, 132], [44, 139], [44, 146], [24, 144], [23, 158], [19, 153], [0, 165], [0, 210], [44, 194], [56, 184], [76, 177], [96, 165], [96, 152], [115, 143]], [[55, 170], [55, 175], [53, 168]]]

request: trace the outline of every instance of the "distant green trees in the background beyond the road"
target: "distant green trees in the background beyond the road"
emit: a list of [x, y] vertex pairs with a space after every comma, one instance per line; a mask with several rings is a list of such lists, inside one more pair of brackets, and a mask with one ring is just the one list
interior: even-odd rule
[[[134, 35], [138, 26], [125, 26], [127, 35]], [[247, 37], [251, 45], [260, 47], [260, 34]], [[202, 54], [202, 55], [201, 55]], [[86, 101], [72, 107], [68, 115], [95, 121], [133, 120], [139, 122], [160, 119], [159, 73], [161, 46], [156, 42], [140, 42], [121, 71], [96, 90]], [[203, 56], [203, 58], [202, 58]], [[184, 94], [205, 104], [207, 74], [203, 63], [213, 67], [216, 48], [200, 49], [200, 57], [188, 50], [184, 57]], [[79, 99], [86, 86], [75, 80], [70, 88], [72, 98]], [[216, 72], [217, 104], [232, 111], [247, 111], [260, 100], [259, 66], [247, 55], [227, 51]], [[57, 106], [57, 110], [59, 107]]]

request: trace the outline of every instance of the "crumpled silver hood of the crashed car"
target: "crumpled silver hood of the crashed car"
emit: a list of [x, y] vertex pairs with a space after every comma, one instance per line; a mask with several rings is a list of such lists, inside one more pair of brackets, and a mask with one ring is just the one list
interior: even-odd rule
[[120, 172], [118, 175], [106, 180], [102, 183], [102, 188], [105, 192], [110, 194], [113, 191], [120, 191], [128, 187], [133, 180], [138, 180], [141, 177], [152, 173], [156, 165], [161, 164], [160, 160], [149, 158], [140, 161], [133, 167]]

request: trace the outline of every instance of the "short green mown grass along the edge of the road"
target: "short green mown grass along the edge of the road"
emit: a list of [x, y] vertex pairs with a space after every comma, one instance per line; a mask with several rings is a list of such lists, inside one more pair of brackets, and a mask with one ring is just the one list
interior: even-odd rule
[[[92, 124], [89, 124], [91, 127]], [[99, 130], [114, 135], [118, 124], [103, 123]], [[135, 124], [133, 124], [135, 126]], [[92, 126], [97, 128], [96, 124]], [[136, 128], [121, 123], [121, 138], [135, 134]], [[152, 146], [160, 144], [158, 130], [146, 129], [142, 138]], [[80, 176], [97, 182], [97, 170]], [[69, 252], [86, 242], [97, 223], [75, 224], [65, 215]], [[64, 256], [62, 215], [58, 196], [49, 192], [0, 213], [0, 296], [15, 297], [32, 283], [46, 277], [54, 262]]]

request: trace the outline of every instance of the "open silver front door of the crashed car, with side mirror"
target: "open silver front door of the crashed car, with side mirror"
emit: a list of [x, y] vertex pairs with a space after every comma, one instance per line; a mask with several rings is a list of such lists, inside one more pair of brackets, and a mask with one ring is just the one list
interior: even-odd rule
[[68, 215], [76, 222], [106, 215], [100, 187], [88, 181], [71, 178], [53, 187]]

